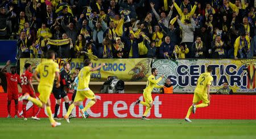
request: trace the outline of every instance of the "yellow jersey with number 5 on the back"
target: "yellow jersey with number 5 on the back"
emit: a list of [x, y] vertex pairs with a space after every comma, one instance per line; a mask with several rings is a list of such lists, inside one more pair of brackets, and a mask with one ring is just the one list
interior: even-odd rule
[[40, 74], [40, 82], [38, 86], [53, 87], [55, 72], [59, 72], [59, 65], [53, 60], [43, 60], [35, 69]]

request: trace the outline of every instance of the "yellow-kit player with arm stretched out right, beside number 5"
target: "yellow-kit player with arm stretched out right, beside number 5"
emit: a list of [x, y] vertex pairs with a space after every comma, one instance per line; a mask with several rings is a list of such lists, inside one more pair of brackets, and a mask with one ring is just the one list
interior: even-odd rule
[[84, 117], [84, 118], [86, 118], [86, 116], [85, 116], [86, 110], [88, 108], [92, 107], [97, 102], [97, 99], [95, 98], [93, 91], [89, 89], [90, 72], [96, 71], [96, 70], [100, 69], [102, 66], [105, 66], [105, 64], [103, 63], [100, 66], [96, 66], [95, 68], [92, 68], [92, 62], [89, 59], [86, 59], [84, 61], [84, 68], [82, 68], [80, 70], [80, 73], [77, 76], [79, 79], [79, 83], [77, 86], [77, 92], [76, 92], [74, 103], [69, 106], [68, 112], [64, 116], [64, 119], [68, 123], [69, 123], [68, 117], [69, 117], [70, 113], [72, 112], [72, 109], [75, 106], [81, 106], [80, 102], [84, 101], [85, 98], [91, 99], [91, 100], [83, 109], [80, 109], [80, 113], [82, 114], [82, 117]]

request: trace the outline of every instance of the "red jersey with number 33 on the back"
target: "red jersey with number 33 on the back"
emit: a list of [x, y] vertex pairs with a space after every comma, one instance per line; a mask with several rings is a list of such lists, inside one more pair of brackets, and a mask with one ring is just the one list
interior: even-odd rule
[[21, 77], [20, 77], [20, 84], [22, 85], [22, 92], [23, 93], [31, 93], [33, 92], [33, 90], [30, 87], [30, 83], [28, 82], [28, 80], [32, 80], [32, 73], [30, 73], [30, 71], [26, 70], [24, 71], [24, 73], [22, 73]]

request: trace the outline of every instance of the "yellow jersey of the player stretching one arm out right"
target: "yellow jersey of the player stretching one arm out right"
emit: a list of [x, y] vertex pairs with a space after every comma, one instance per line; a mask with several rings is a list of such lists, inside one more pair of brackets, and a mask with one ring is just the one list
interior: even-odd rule
[[79, 83], [77, 86], [77, 91], [89, 90], [89, 82], [90, 82], [90, 69], [89, 66], [85, 66], [80, 70], [78, 75]]

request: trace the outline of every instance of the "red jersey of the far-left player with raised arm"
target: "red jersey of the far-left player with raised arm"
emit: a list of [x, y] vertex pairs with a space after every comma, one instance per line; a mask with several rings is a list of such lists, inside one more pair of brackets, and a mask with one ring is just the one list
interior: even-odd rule
[[6, 73], [7, 93], [18, 94], [18, 83], [20, 83], [19, 74]]

